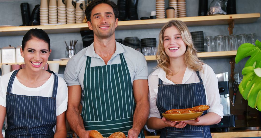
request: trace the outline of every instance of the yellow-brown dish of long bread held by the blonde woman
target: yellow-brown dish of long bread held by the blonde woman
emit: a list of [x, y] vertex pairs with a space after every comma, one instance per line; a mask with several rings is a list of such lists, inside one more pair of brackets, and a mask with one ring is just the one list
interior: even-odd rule
[[194, 120], [203, 114], [203, 111], [209, 109], [208, 105], [199, 105], [186, 109], [171, 109], [162, 113], [162, 116], [170, 121]]

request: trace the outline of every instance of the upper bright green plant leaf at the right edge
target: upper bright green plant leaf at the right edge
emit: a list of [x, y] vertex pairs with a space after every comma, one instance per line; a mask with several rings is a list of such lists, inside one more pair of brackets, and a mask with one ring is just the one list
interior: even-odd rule
[[245, 67], [255, 65], [254, 68], [261, 68], [261, 42], [259, 40], [256, 41], [256, 45], [250, 43], [244, 43], [240, 45], [236, 53], [236, 64], [248, 56], [251, 57], [247, 60]]

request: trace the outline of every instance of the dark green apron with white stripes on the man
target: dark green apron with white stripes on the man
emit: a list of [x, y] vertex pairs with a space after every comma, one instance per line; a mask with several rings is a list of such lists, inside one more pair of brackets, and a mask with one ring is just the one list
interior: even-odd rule
[[[133, 124], [131, 76], [122, 53], [120, 59], [120, 64], [96, 67], [90, 67], [91, 57], [86, 60], [81, 115], [85, 130], [97, 130], [104, 137], [117, 131], [127, 136]], [[142, 130], [138, 137], [144, 137]]]

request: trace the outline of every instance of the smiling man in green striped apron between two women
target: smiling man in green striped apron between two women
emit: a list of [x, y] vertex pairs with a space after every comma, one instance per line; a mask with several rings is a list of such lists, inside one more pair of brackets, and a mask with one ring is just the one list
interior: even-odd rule
[[86, 18], [94, 42], [74, 55], [64, 72], [70, 127], [79, 137], [88, 137], [88, 130], [104, 137], [117, 131], [129, 138], [144, 137], [142, 128], [149, 114], [145, 57], [115, 41], [114, 2], [94, 0], [86, 8]]

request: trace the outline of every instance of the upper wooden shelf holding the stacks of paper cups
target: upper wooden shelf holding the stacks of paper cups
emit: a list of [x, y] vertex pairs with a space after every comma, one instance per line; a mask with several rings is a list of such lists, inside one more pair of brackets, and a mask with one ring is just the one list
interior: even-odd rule
[[[260, 13], [249, 14], [230, 14], [230, 15], [215, 15], [215, 16], [195, 16], [182, 18], [168, 18], [168, 19], [153, 19], [153, 20], [132, 20], [119, 21], [116, 30], [130, 30], [130, 29], [148, 29], [161, 28], [166, 22], [170, 20], [181, 20], [187, 26], [204, 26], [204, 25], [225, 25], [234, 20], [235, 24], [253, 23], [260, 17]], [[0, 27], [0, 36], [17, 36], [25, 35], [31, 28], [39, 28], [46, 31], [46, 33], [72, 33], [80, 32], [81, 30], [88, 30], [87, 23], [82, 24], [64, 24], [64, 25], [42, 25], [42, 26], [13, 26]]]

